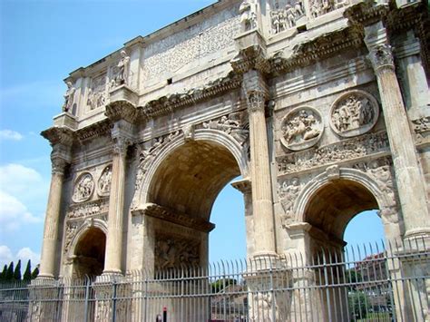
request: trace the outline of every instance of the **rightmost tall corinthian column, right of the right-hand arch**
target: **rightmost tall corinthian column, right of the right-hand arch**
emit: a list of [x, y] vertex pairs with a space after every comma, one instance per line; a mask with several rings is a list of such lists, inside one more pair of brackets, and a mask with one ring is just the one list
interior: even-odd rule
[[366, 26], [365, 31], [365, 42], [376, 73], [386, 120], [406, 238], [422, 236], [430, 233], [425, 181], [397, 81], [393, 53], [382, 23]]

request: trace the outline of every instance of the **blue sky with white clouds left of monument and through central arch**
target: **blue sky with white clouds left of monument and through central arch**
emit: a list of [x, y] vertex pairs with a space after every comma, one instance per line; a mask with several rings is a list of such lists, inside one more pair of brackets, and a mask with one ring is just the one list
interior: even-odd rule
[[[61, 112], [63, 79], [211, 3], [0, 0], [0, 265], [40, 256], [51, 148], [39, 133]], [[221, 192], [211, 220], [210, 259], [245, 257], [239, 191]]]

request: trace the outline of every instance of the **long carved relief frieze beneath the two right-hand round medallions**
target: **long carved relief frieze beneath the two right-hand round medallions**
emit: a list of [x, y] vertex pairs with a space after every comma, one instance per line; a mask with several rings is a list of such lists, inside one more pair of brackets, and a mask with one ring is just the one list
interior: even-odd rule
[[298, 151], [277, 158], [280, 173], [306, 171], [331, 163], [348, 161], [377, 152], [389, 151], [386, 132], [362, 135], [355, 139], [339, 141], [321, 148]]

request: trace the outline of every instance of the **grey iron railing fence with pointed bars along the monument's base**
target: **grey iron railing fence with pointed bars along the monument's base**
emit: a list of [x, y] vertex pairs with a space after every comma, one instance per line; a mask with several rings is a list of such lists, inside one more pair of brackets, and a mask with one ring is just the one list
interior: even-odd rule
[[0, 321], [428, 321], [425, 240], [0, 286]]

